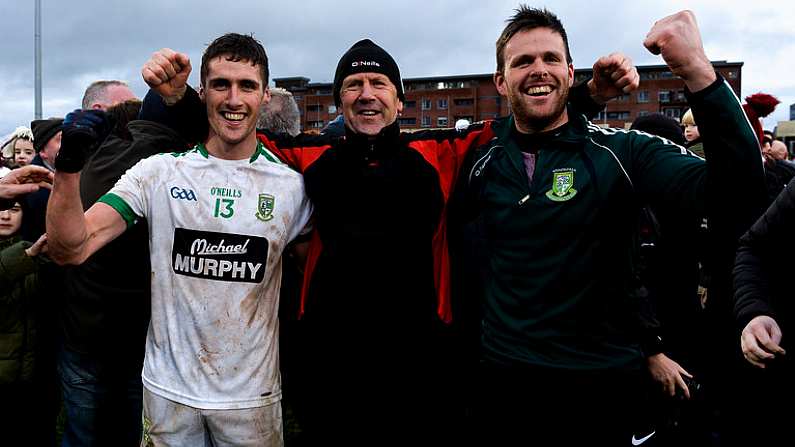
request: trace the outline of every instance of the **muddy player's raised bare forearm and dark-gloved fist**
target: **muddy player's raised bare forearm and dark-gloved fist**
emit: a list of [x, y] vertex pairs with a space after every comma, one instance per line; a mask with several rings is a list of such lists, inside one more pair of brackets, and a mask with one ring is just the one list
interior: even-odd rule
[[91, 147], [107, 135], [107, 127], [104, 114], [97, 111], [75, 111], [64, 120], [47, 204], [49, 255], [58, 264], [81, 264], [126, 228], [110, 206], [97, 203], [84, 214], [80, 200], [80, 170]]

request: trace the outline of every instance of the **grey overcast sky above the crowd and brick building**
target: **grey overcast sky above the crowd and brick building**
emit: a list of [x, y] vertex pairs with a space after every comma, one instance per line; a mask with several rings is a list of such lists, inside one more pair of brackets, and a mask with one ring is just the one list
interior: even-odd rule
[[[97, 79], [126, 80], [141, 97], [140, 67], [170, 47], [187, 53], [198, 83], [204, 47], [225, 32], [253, 33], [270, 58], [271, 78], [331, 81], [341, 54], [368, 37], [389, 51], [403, 77], [489, 73], [494, 41], [518, 1], [399, 0], [42, 0], [43, 114], [79, 107]], [[772, 129], [795, 102], [795, 6], [791, 0], [528, 2], [562, 19], [577, 68], [622, 51], [658, 64], [643, 39], [655, 20], [695, 12], [707, 56], [744, 62], [742, 96], [764, 91], [782, 104]], [[34, 1], [0, 0], [0, 136], [34, 113]]]

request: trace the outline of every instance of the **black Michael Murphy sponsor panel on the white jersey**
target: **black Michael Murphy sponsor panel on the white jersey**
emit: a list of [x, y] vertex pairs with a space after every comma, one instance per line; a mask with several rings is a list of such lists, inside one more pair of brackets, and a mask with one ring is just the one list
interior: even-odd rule
[[268, 240], [242, 234], [174, 229], [174, 273], [216, 281], [259, 283], [265, 277]]

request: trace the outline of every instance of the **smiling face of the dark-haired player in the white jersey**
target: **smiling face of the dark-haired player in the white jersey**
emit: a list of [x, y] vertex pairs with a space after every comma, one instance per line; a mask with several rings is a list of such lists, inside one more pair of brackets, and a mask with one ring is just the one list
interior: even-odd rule
[[226, 159], [251, 156], [260, 105], [270, 100], [261, 69], [247, 60], [216, 57], [208, 65], [200, 96], [210, 123], [207, 151]]

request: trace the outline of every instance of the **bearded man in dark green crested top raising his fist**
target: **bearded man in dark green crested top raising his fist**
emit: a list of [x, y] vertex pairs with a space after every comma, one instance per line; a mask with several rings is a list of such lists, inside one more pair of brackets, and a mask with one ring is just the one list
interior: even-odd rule
[[497, 42], [495, 82], [513, 115], [458, 183], [483, 278], [482, 445], [627, 445], [642, 365], [629, 326], [639, 206], [706, 212], [721, 231], [764, 194], [753, 130], [692, 14], [658, 21], [645, 45], [685, 80], [707, 163], [567, 112], [573, 67], [548, 11], [520, 8]]

